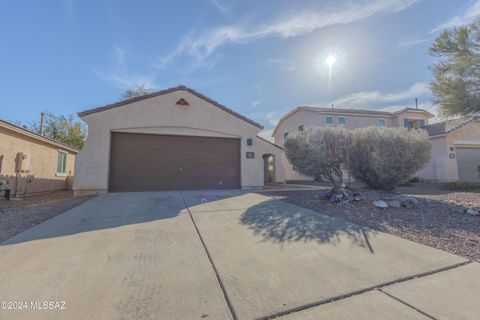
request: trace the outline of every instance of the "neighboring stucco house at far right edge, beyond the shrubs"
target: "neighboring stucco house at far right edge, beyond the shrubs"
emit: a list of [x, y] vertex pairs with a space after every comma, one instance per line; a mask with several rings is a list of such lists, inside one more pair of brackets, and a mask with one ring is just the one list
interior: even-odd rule
[[480, 181], [480, 115], [423, 127], [432, 158], [418, 176], [435, 181]]

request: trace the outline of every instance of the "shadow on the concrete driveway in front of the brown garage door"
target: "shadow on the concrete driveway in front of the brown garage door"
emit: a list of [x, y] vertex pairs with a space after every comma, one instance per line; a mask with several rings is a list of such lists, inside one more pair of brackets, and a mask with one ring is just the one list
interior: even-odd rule
[[[218, 203], [243, 194], [240, 190], [182, 191], [189, 206]], [[107, 230], [128, 225], [173, 219], [186, 213], [179, 191], [114, 192], [97, 196], [16, 236], [1, 246]]]

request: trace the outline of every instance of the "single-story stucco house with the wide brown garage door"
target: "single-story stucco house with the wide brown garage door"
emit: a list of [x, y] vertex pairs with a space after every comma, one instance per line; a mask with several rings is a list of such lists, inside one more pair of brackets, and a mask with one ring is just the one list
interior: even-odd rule
[[75, 163], [76, 195], [284, 182], [284, 151], [257, 136], [260, 124], [185, 86], [79, 116], [88, 138]]

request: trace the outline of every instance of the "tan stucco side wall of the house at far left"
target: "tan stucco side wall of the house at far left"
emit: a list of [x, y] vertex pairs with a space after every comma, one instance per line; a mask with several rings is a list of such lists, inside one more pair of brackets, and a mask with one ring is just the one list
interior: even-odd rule
[[[57, 174], [58, 151], [67, 153], [66, 174]], [[30, 171], [16, 173], [18, 152], [30, 155]], [[8, 180], [12, 195], [25, 196], [68, 188], [74, 174], [75, 154], [0, 127], [0, 179]]]

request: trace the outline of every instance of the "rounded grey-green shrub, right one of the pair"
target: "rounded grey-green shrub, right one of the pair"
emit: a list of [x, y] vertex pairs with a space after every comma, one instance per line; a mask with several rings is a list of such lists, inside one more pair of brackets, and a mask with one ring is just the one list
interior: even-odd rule
[[426, 131], [406, 128], [356, 129], [350, 148], [352, 175], [375, 189], [392, 190], [412, 179], [430, 160]]

